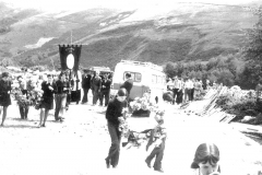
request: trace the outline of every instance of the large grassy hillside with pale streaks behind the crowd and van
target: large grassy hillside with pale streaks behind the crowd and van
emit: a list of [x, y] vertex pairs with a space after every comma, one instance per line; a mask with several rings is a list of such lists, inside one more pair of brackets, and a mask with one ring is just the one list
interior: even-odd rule
[[[0, 35], [0, 57], [12, 57], [23, 66], [49, 67], [59, 67], [57, 45], [70, 44], [71, 31], [73, 43], [83, 44], [82, 67], [114, 68], [121, 59], [164, 65], [179, 60], [206, 61], [237, 52], [246, 43], [246, 30], [258, 20], [243, 7], [203, 3], [179, 3], [170, 11], [139, 20], [135, 20], [139, 10], [20, 13], [21, 19], [10, 20], [7, 26], [11, 30]], [[10, 10], [10, 14], [16, 13]], [[40, 37], [53, 39], [39, 48], [24, 47], [36, 44]]]

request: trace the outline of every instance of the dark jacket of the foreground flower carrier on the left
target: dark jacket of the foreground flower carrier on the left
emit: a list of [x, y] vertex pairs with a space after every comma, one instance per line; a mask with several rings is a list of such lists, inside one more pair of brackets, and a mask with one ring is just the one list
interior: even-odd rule
[[107, 110], [106, 110], [106, 119], [111, 124], [118, 126], [119, 120], [118, 117], [122, 116], [122, 108], [127, 106], [127, 102], [119, 102], [116, 97], [109, 101]]

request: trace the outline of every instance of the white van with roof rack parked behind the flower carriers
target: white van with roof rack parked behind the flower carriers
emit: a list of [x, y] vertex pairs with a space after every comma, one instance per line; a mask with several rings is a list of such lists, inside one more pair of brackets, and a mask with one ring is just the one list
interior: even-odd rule
[[130, 100], [142, 97], [151, 90], [151, 101], [162, 101], [166, 91], [166, 74], [163, 67], [152, 62], [121, 60], [116, 65], [110, 95], [116, 95], [120, 85], [126, 81], [126, 73], [131, 73], [133, 88], [130, 92]]

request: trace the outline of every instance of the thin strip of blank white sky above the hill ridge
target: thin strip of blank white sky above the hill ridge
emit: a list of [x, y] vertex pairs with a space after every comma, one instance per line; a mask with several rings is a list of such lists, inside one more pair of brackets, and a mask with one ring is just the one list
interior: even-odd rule
[[206, 2], [217, 4], [240, 4], [253, 0], [0, 0], [19, 8], [36, 8], [45, 11], [85, 10], [90, 8], [136, 9], [150, 4], [174, 2]]

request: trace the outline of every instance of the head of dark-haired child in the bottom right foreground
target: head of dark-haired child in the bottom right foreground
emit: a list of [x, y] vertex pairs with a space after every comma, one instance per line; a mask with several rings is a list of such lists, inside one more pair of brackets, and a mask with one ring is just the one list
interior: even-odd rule
[[[214, 143], [202, 143], [198, 147], [191, 168], [200, 168], [203, 175], [217, 172], [219, 150]], [[218, 170], [219, 171], [219, 170]]]

